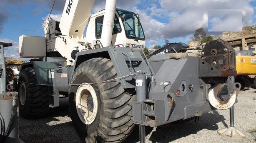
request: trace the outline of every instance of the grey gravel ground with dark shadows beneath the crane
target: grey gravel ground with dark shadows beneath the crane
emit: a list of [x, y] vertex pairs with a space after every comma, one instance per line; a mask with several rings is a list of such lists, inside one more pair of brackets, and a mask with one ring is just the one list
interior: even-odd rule
[[[80, 143], [68, 112], [68, 100], [51, 109], [42, 119], [20, 117], [20, 138], [25, 143]], [[246, 135], [233, 140], [218, 135], [219, 129], [230, 125], [229, 110], [214, 110], [203, 114], [199, 123], [171, 123], [156, 128], [146, 127], [146, 143], [255, 143], [256, 142], [256, 88], [241, 91], [234, 105], [235, 127]], [[254, 130], [254, 132], [250, 132]], [[139, 143], [138, 126], [123, 143]]]

